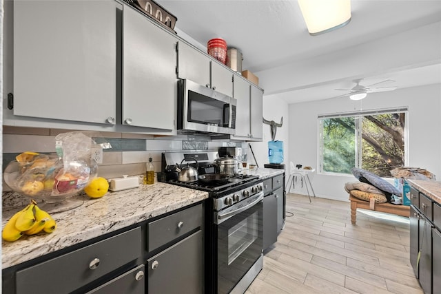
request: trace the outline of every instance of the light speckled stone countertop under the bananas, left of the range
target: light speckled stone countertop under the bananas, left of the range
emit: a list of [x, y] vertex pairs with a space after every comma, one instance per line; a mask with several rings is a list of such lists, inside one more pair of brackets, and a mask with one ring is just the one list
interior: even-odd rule
[[[208, 193], [157, 182], [124, 191], [109, 191], [97, 199], [73, 198], [81, 198], [84, 202], [75, 209], [51, 214], [57, 221], [53, 233], [23, 235], [15, 242], [2, 241], [2, 269], [200, 202], [208, 198]], [[21, 208], [3, 211], [2, 228]]]

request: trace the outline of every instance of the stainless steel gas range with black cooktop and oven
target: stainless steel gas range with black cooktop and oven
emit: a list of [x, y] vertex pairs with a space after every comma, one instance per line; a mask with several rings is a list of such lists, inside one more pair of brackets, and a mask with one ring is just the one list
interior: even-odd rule
[[218, 154], [163, 154], [165, 182], [209, 193], [205, 214], [205, 293], [244, 293], [263, 268], [263, 181], [258, 176], [240, 174], [222, 182], [179, 181], [174, 174], [176, 162], [187, 157], [199, 158], [200, 174], [214, 174], [211, 167]]

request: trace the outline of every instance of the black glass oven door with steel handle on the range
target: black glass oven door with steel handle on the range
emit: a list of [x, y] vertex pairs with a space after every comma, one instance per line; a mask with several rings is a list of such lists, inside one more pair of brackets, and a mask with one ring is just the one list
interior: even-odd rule
[[232, 214], [234, 206], [216, 213], [218, 293], [232, 291], [262, 255], [263, 193], [241, 202], [237, 213]]

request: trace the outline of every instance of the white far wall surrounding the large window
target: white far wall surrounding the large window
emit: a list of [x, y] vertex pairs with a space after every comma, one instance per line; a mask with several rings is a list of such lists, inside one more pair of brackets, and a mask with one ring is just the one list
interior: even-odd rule
[[[362, 101], [334, 98], [289, 105], [289, 160], [316, 168], [311, 180], [318, 197], [347, 200], [345, 182], [353, 176], [317, 174], [318, 114], [353, 110], [409, 107], [408, 167], [421, 167], [441, 179], [441, 84], [411, 87], [393, 92], [371, 93]], [[305, 194], [305, 189], [296, 193]]]

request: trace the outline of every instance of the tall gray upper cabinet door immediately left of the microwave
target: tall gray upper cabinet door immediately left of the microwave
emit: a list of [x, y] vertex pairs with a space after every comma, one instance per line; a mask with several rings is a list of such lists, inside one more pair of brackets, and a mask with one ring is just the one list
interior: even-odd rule
[[176, 129], [177, 39], [129, 6], [123, 11], [123, 125]]

